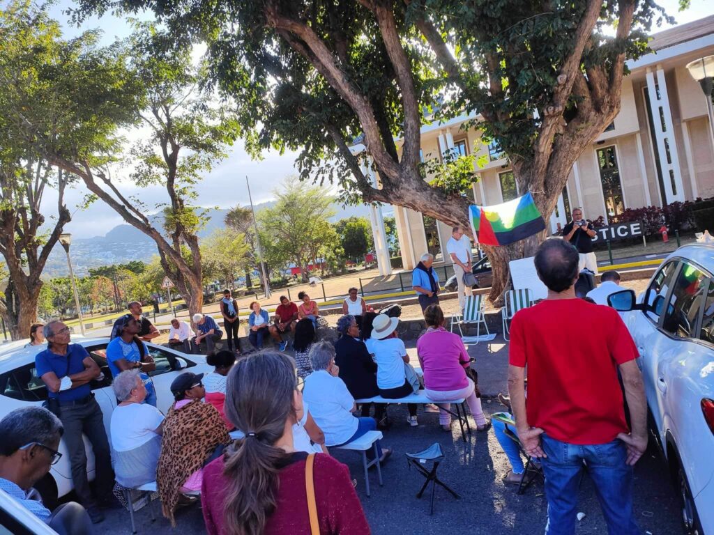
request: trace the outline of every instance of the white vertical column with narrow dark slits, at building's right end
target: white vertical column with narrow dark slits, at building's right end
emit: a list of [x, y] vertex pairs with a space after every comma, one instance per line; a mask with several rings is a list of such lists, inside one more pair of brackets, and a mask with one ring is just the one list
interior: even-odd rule
[[[655, 78], [656, 76], [656, 78]], [[674, 137], [672, 112], [667, 94], [667, 82], [661, 66], [656, 71], [647, 69], [647, 92], [650, 97], [650, 108], [653, 118], [653, 129], [657, 141], [660, 169], [664, 183], [666, 204], [677, 200], [684, 201], [682, 173], [679, 166], [677, 142]]]

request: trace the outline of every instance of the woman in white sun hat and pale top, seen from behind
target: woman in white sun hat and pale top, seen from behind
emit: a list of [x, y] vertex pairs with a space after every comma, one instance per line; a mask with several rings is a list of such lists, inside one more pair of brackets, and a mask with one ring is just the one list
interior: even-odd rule
[[[407, 380], [405, 365], [409, 363], [406, 347], [396, 333], [398, 317], [379, 314], [372, 322], [372, 344], [374, 360], [377, 363], [377, 387], [379, 395], [387, 399], [399, 399], [414, 392]], [[416, 427], [416, 404], [408, 403], [412, 427]]]

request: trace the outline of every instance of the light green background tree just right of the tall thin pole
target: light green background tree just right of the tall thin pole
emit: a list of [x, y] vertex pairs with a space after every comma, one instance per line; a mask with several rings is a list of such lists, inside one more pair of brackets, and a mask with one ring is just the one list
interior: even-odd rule
[[331, 237], [336, 237], [328, 223], [328, 218], [335, 215], [330, 208], [332, 199], [320, 188], [297, 180], [274, 193], [277, 202], [273, 208], [258, 213], [260, 228], [301, 268], [303, 281], [307, 282], [308, 265], [319, 258], [323, 247], [329, 246]]

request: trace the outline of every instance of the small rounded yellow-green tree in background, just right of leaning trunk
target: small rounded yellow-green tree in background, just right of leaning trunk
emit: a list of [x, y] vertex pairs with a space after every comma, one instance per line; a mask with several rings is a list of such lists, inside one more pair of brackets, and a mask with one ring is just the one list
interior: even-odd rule
[[212, 279], [222, 279], [232, 289], [236, 273], [248, 264], [248, 249], [245, 235], [226, 228], [214, 230], [201, 243], [204, 273]]

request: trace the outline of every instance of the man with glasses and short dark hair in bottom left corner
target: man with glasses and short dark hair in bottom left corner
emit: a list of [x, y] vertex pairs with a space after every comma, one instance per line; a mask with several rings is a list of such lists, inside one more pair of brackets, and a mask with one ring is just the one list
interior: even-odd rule
[[50, 511], [32, 488], [61, 459], [63, 432], [59, 419], [42, 407], [15, 409], [0, 420], [0, 489], [60, 535], [91, 534], [81, 505], [70, 502]]

